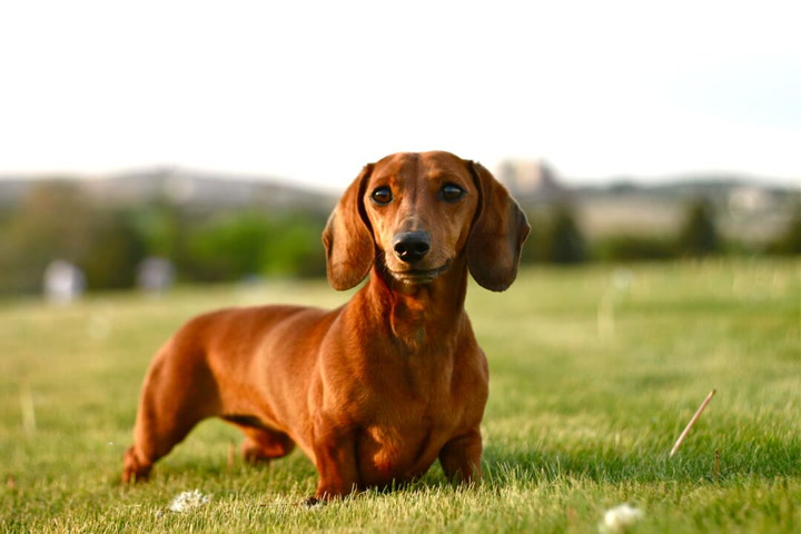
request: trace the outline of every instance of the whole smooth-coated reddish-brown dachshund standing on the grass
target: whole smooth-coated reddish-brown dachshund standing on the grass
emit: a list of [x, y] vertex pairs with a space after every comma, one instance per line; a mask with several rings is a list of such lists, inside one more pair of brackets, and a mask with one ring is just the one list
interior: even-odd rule
[[245, 433], [249, 461], [299, 445], [319, 473], [314, 500], [412, 479], [436, 458], [451, 479], [476, 481], [488, 376], [464, 310], [467, 271], [506, 289], [528, 230], [478, 164], [424, 152], [367, 165], [323, 243], [335, 289], [369, 281], [334, 310], [261, 306], [190, 320], [150, 365], [122, 479], [147, 477], [218, 416]]

